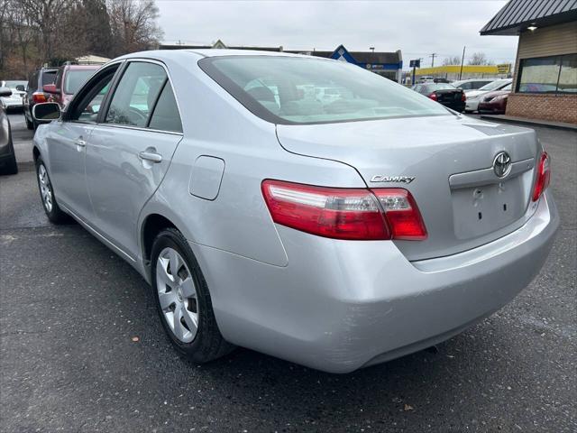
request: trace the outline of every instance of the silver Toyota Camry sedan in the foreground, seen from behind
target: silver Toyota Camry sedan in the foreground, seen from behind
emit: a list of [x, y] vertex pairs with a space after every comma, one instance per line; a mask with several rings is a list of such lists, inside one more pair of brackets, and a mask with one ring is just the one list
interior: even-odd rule
[[50, 221], [132, 264], [199, 363], [346, 373], [435, 345], [525, 288], [559, 225], [533, 130], [339, 61], [134, 53], [34, 116]]

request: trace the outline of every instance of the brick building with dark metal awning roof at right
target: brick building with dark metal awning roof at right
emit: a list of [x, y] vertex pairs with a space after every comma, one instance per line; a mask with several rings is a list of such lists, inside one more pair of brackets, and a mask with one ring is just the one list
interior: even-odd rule
[[506, 115], [577, 124], [577, 0], [510, 0], [481, 35], [518, 35]]

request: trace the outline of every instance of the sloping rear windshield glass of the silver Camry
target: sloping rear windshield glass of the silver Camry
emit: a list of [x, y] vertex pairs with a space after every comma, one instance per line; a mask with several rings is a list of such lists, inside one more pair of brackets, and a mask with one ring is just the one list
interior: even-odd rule
[[449, 115], [417, 92], [338, 60], [227, 56], [198, 65], [253, 114], [275, 124]]

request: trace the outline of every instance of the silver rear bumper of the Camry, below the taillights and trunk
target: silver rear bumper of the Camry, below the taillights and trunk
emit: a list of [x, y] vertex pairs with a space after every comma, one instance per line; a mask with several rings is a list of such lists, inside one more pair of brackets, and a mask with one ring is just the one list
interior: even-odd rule
[[547, 192], [517, 231], [415, 263], [391, 242], [335, 241], [282, 226], [286, 267], [191, 246], [225, 339], [348, 373], [443, 341], [501, 308], [539, 272], [558, 225]]

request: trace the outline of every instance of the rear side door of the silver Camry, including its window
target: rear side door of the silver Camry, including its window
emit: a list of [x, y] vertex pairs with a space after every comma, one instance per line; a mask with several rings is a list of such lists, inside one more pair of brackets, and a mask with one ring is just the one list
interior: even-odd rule
[[86, 171], [97, 229], [132, 258], [138, 216], [181, 139], [167, 70], [151, 60], [129, 61], [90, 137]]

